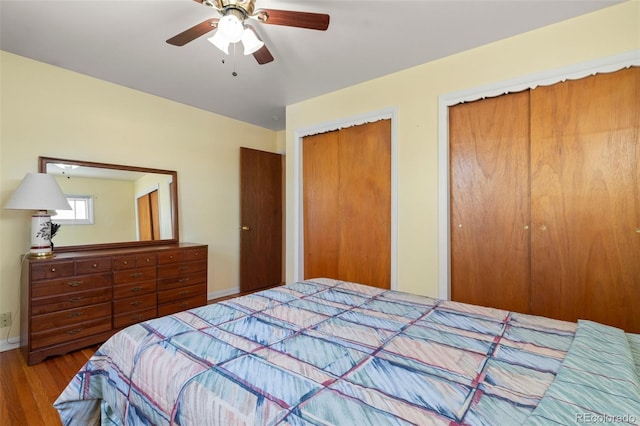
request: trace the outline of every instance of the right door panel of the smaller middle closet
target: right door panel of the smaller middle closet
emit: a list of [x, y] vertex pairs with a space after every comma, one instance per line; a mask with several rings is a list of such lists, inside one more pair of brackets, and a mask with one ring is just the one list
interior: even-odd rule
[[340, 278], [391, 286], [391, 120], [339, 132]]

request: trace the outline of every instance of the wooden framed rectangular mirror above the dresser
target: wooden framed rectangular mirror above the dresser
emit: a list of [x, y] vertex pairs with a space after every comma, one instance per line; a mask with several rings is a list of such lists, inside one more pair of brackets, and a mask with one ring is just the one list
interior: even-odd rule
[[55, 175], [74, 207], [52, 215], [57, 252], [179, 241], [174, 170], [39, 157], [38, 171]]

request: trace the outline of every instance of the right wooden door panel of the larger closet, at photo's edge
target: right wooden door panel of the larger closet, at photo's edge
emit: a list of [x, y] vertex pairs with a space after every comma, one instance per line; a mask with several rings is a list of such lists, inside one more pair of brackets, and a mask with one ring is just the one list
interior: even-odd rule
[[532, 312], [640, 332], [640, 68], [532, 91]]

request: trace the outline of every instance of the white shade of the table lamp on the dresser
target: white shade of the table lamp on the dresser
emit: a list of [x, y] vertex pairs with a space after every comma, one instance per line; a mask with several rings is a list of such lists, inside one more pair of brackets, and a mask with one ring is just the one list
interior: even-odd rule
[[71, 206], [53, 175], [27, 173], [18, 185], [5, 209], [71, 210]]

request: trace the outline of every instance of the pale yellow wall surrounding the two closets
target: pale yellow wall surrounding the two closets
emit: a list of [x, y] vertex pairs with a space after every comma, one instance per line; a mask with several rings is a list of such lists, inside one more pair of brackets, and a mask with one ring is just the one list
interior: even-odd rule
[[[443, 34], [446, 37], [446, 34]], [[438, 295], [438, 96], [640, 48], [630, 1], [287, 108], [287, 281], [293, 272], [295, 131], [397, 108], [398, 289]]]

